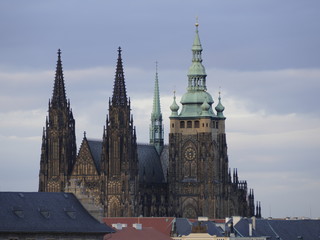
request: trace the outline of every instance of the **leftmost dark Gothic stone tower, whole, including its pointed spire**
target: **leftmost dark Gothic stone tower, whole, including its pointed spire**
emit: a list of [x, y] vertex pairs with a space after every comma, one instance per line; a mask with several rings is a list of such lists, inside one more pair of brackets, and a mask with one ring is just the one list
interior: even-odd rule
[[39, 191], [61, 192], [76, 158], [76, 136], [70, 101], [66, 98], [60, 49], [48, 112], [42, 135]]

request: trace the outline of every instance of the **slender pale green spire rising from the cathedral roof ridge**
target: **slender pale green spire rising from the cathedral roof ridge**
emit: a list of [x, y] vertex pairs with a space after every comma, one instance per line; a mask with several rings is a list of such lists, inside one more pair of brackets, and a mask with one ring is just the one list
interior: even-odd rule
[[154, 145], [158, 154], [163, 149], [163, 125], [162, 113], [160, 107], [159, 81], [158, 81], [158, 63], [156, 63], [156, 77], [154, 82], [153, 108], [151, 113], [150, 125], [150, 144]]

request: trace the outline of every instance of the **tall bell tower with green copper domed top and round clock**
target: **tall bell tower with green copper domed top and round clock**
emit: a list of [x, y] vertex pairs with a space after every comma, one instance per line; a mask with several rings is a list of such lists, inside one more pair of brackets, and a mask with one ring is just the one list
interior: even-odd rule
[[225, 217], [223, 197], [228, 183], [224, 108], [219, 99], [216, 114], [207, 92], [198, 26], [196, 23], [182, 109], [178, 113], [175, 96], [170, 107], [169, 202], [177, 217], [221, 218]]

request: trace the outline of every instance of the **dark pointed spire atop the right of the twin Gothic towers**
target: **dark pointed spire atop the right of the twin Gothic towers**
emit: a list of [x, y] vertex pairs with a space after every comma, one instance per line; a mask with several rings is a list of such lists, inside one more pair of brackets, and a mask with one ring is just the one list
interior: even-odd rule
[[112, 105], [113, 106], [127, 105], [127, 93], [126, 93], [126, 85], [124, 81], [120, 47], [118, 48], [118, 62], [117, 62], [116, 76], [115, 76], [114, 85], [113, 85]]

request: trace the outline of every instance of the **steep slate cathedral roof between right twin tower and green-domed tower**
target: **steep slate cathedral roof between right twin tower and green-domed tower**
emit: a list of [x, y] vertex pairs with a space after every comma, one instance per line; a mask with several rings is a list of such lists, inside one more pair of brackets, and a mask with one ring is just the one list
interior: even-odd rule
[[160, 157], [153, 145], [138, 144], [138, 159], [140, 182], [144, 180], [144, 174], [148, 183], [164, 182]]

